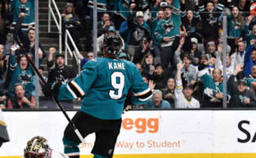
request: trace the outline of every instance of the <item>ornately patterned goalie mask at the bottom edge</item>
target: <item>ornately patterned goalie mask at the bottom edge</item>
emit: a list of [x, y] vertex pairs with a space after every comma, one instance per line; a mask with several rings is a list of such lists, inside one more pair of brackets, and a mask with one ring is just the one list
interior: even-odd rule
[[28, 141], [24, 158], [48, 158], [51, 149], [44, 137], [35, 136]]

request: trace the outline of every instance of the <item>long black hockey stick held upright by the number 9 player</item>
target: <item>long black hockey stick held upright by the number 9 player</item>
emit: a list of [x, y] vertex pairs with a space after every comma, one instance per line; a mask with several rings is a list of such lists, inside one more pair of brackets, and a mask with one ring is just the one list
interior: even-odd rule
[[[14, 41], [17, 42], [17, 44], [20, 47], [20, 50], [22, 51], [22, 54], [24, 54], [27, 58], [27, 60], [29, 61], [29, 63], [31, 64], [31, 66], [33, 67], [34, 71], [36, 72], [36, 74], [39, 76], [40, 80], [43, 82], [44, 85], [46, 85], [46, 81], [44, 80], [43, 76], [39, 73], [38, 69], [36, 68], [35, 64], [32, 62], [32, 60], [30, 59], [30, 57], [27, 55], [25, 48], [21, 45], [19, 39], [18, 39], [18, 34], [19, 34], [19, 29], [21, 28], [21, 23], [24, 20], [25, 16], [21, 16], [19, 18], [19, 20], [17, 21], [15, 28], [14, 28]], [[60, 104], [59, 100], [57, 100], [57, 98], [55, 98], [55, 96], [52, 96], [52, 99], [57, 103], [58, 107], [61, 109], [62, 113], [64, 114], [64, 116], [67, 118], [69, 124], [73, 127], [73, 130], [75, 131], [77, 137], [80, 139], [80, 141], [85, 144], [84, 138], [81, 135], [81, 133], [78, 131], [78, 129], [76, 128], [75, 124], [71, 121], [71, 119], [69, 118], [69, 116], [67, 115], [67, 112], [65, 111], [65, 109], [63, 108], [63, 106]]]

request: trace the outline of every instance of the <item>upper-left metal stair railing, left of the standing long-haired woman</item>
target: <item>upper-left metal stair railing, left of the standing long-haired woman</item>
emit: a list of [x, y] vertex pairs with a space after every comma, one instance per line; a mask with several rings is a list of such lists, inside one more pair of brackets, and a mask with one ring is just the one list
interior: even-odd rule
[[[53, 4], [57, 14], [58, 14], [58, 17], [59, 17], [59, 23], [56, 19], [56, 16], [53, 12], [53, 9], [52, 9], [52, 6], [51, 4]], [[61, 27], [62, 27], [62, 24], [61, 24], [61, 14], [59, 12], [59, 8], [57, 6], [57, 4], [55, 3], [55, 0], [49, 0], [48, 2], [48, 7], [49, 7], [49, 11], [48, 11], [48, 32], [51, 32], [51, 15], [54, 19], [54, 22], [59, 30], [59, 52], [62, 53], [62, 37], [61, 37], [61, 34], [62, 34], [62, 30], [61, 30]]]

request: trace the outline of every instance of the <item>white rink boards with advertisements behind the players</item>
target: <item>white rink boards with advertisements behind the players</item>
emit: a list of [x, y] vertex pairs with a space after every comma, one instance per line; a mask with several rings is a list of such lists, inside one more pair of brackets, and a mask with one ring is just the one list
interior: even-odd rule
[[[73, 117], [75, 111], [67, 112]], [[256, 110], [129, 111], [122, 118], [115, 158], [256, 157]], [[4, 112], [11, 142], [1, 157], [20, 157], [27, 141], [43, 136], [63, 151], [67, 120], [60, 111]], [[79, 145], [82, 158], [90, 154], [94, 134]]]

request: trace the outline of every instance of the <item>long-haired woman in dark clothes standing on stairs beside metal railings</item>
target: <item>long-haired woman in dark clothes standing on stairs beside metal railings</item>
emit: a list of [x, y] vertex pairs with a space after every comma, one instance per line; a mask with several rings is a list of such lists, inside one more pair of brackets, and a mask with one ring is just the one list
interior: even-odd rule
[[[64, 12], [61, 14], [62, 16], [62, 40], [65, 39], [65, 31], [68, 29], [71, 37], [73, 38], [74, 42], [77, 45], [78, 50], [81, 50], [79, 38], [81, 34], [81, 22], [79, 21], [78, 16], [75, 13], [75, 8], [72, 3], [67, 3]], [[73, 51], [74, 47], [69, 45], [70, 49]]]

